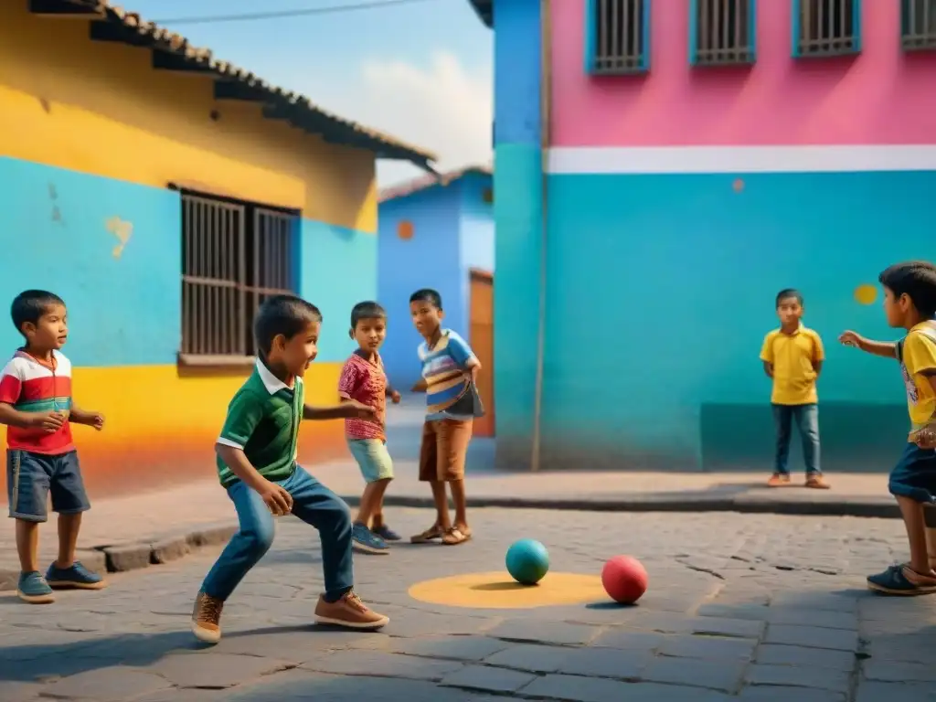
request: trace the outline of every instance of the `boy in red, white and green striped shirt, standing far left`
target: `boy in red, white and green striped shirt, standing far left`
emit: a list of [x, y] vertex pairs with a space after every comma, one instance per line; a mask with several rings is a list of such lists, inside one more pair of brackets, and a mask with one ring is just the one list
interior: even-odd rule
[[[33, 605], [54, 602], [52, 588], [100, 590], [107, 583], [75, 560], [81, 513], [91, 508], [81, 480], [71, 424], [100, 431], [104, 417], [71, 399], [71, 363], [59, 350], [68, 337], [65, 302], [45, 290], [13, 300], [13, 324], [26, 343], [0, 373], [0, 424], [7, 425], [7, 496], [16, 519], [20, 581], [16, 593]], [[37, 563], [38, 526], [59, 514], [59, 555], [45, 578]]]

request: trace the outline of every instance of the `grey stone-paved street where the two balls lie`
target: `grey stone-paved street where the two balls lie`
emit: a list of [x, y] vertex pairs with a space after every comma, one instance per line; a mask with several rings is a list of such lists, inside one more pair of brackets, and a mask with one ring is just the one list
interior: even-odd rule
[[[431, 513], [391, 510], [404, 534]], [[267, 557], [203, 648], [188, 618], [216, 549], [111, 576], [30, 607], [0, 597], [0, 700], [289, 702], [925, 702], [936, 699], [936, 598], [885, 598], [864, 576], [903, 556], [899, 521], [739, 514], [475, 509], [475, 540], [356, 557], [381, 633], [310, 625], [314, 530], [281, 519]], [[516, 538], [555, 572], [627, 552], [650, 572], [637, 607], [464, 609], [417, 602], [417, 580], [503, 569]]]

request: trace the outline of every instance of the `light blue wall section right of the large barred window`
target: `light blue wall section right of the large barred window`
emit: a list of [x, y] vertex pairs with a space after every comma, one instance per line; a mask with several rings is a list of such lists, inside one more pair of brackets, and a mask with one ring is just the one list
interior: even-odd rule
[[351, 308], [377, 298], [377, 241], [374, 234], [302, 220], [299, 294], [322, 311], [319, 361], [344, 362], [355, 349]]

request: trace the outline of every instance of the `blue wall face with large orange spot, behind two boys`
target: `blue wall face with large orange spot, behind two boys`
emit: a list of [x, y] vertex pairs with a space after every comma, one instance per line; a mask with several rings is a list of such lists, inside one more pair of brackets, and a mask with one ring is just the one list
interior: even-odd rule
[[[398, 388], [412, 388], [420, 374], [416, 349], [422, 338], [410, 319], [410, 295], [420, 287], [438, 290], [446, 311], [446, 326], [459, 333], [465, 331], [460, 212], [457, 184], [433, 186], [380, 205], [377, 300], [388, 313], [382, 354], [390, 383]], [[397, 235], [402, 221], [413, 224], [412, 239], [402, 240]]]

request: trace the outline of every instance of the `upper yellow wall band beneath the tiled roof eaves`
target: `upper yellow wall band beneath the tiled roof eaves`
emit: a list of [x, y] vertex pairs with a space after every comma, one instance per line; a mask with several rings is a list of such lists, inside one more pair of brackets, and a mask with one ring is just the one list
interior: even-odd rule
[[376, 231], [373, 154], [263, 119], [256, 104], [215, 101], [211, 78], [155, 70], [149, 50], [92, 41], [89, 22], [26, 6], [0, 2], [0, 155]]

